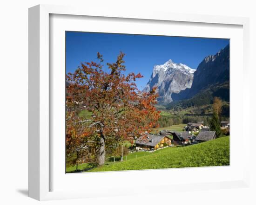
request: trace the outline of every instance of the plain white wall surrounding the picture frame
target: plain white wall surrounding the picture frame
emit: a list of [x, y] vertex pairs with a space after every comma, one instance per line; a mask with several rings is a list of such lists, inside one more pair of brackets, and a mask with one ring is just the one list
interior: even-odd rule
[[[0, 204], [256, 204], [256, 149], [253, 148], [253, 117], [256, 104], [251, 95], [251, 187], [204, 192], [176, 192], [99, 199], [38, 202], [27, 197], [28, 180], [28, 7], [37, 4], [78, 5], [117, 9], [147, 9], [174, 13], [197, 13], [250, 17], [251, 90], [255, 92], [256, 6], [253, 0], [5, 0], [0, 3]], [[237, 82], [239, 83], [239, 82]], [[86, 186], [86, 185], [85, 185]], [[166, 197], [169, 199], [167, 200]]]

